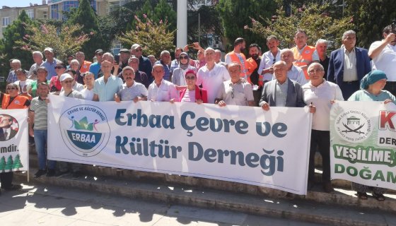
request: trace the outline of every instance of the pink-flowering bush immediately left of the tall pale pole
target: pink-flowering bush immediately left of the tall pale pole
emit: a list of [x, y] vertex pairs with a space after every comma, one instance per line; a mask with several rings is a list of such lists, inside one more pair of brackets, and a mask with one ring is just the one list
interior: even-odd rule
[[156, 57], [159, 57], [164, 49], [175, 48], [173, 45], [175, 31], [168, 31], [166, 21], [161, 20], [159, 23], [155, 23], [147, 16], [144, 16], [143, 20], [137, 16], [135, 19], [138, 22], [136, 28], [117, 36], [124, 47], [131, 47], [132, 44], [139, 43], [144, 49], [144, 53], [153, 54]]

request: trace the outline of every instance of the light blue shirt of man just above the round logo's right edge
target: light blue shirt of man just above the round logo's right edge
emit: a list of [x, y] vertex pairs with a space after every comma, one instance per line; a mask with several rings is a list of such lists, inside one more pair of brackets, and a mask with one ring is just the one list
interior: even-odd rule
[[103, 76], [95, 80], [93, 93], [98, 95], [99, 101], [112, 101], [114, 100], [114, 94], [120, 92], [121, 89], [121, 78], [110, 76], [105, 83], [105, 77]]

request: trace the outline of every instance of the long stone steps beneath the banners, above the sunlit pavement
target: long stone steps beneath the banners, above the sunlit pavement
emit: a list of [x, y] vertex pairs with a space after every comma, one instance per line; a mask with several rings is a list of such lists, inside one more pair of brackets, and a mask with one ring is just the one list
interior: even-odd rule
[[[35, 172], [34, 169], [30, 172], [30, 178], [32, 179], [28, 184], [45, 184], [45, 194], [52, 196], [58, 194], [52, 192], [51, 186], [61, 186], [130, 198], [143, 198], [169, 204], [233, 210], [240, 213], [325, 225], [385, 226], [396, 222], [394, 214], [396, 201], [393, 198], [388, 198], [381, 203], [373, 198], [369, 198], [367, 201], [358, 201], [354, 197], [342, 194], [342, 191], [339, 190], [334, 194], [310, 191], [305, 198], [289, 196], [284, 192], [278, 192], [278, 196], [274, 196], [274, 192], [271, 193], [271, 196], [262, 192], [260, 196], [257, 196], [214, 189], [200, 189], [195, 186], [174, 186], [155, 180], [148, 183], [109, 177], [71, 179], [70, 175], [64, 175], [63, 177], [42, 176], [39, 179], [34, 179], [33, 172]], [[26, 173], [16, 173], [15, 179], [19, 182], [25, 181]], [[343, 206], [332, 205], [332, 201], [330, 201], [332, 199], [341, 199]], [[373, 206], [378, 208], [373, 208]]]

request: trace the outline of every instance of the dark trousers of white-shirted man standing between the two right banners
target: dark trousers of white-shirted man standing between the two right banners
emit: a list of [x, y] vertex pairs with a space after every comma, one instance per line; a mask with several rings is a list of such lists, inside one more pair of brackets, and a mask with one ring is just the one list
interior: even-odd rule
[[322, 183], [330, 182], [330, 131], [313, 129], [310, 133], [310, 163], [308, 181], [315, 182], [315, 153], [319, 150], [322, 155]]

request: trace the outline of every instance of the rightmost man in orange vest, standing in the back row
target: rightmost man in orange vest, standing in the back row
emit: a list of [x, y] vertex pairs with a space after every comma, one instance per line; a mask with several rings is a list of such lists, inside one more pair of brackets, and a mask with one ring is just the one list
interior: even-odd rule
[[307, 44], [308, 36], [305, 30], [297, 30], [294, 35], [294, 42], [296, 42], [296, 47], [291, 48], [293, 51], [294, 65], [300, 67], [304, 71], [305, 78], [308, 80], [308, 66], [313, 62], [319, 62], [318, 52], [316, 52], [315, 47], [311, 47]]

